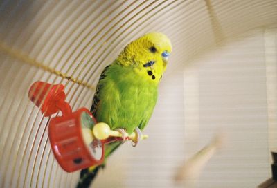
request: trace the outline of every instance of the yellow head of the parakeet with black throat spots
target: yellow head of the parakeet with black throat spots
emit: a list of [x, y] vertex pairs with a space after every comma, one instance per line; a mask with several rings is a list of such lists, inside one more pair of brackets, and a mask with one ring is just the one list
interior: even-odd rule
[[131, 66], [136, 73], [158, 83], [166, 70], [171, 42], [160, 32], [151, 32], [132, 41], [118, 56], [123, 66]]

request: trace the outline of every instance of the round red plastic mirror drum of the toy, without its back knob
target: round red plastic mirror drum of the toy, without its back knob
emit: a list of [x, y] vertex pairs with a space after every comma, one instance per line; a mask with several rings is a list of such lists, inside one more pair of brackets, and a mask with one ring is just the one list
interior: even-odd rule
[[101, 164], [103, 144], [93, 139], [91, 129], [96, 121], [87, 109], [78, 109], [69, 115], [49, 122], [49, 139], [55, 158], [68, 172]]

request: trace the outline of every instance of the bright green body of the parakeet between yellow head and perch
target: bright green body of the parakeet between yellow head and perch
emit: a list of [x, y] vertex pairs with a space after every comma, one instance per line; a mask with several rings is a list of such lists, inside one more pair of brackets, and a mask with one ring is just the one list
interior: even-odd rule
[[100, 76], [91, 112], [111, 129], [123, 128], [132, 133], [136, 127], [145, 127], [156, 102], [157, 84], [136, 74], [132, 67], [114, 63]]

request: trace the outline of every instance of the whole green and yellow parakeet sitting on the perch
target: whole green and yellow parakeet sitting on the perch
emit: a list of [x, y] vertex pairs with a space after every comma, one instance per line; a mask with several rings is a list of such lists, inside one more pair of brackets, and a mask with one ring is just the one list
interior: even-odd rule
[[[109, 124], [112, 130], [143, 130], [157, 102], [158, 85], [171, 49], [170, 39], [159, 32], [128, 44], [100, 75], [91, 106], [96, 120]], [[120, 144], [107, 144], [105, 158]], [[101, 167], [83, 169], [77, 187], [89, 187]]]

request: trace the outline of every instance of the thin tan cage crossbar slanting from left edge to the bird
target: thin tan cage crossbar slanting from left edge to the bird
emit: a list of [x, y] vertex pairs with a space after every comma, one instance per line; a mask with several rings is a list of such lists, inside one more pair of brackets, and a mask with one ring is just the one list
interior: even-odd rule
[[52, 74], [55, 74], [59, 77], [68, 79], [69, 81], [71, 81], [75, 84], [79, 84], [80, 86], [84, 86], [84, 87], [89, 88], [93, 91], [95, 90], [95, 86], [92, 86], [92, 85], [88, 84], [87, 82], [82, 82], [79, 79], [75, 79], [75, 78], [73, 78], [69, 75], [66, 75], [66, 74], [64, 74], [60, 71], [55, 70], [54, 68], [46, 66], [46, 65], [42, 64], [42, 62], [38, 62], [36, 59], [33, 59], [33, 58], [29, 57], [27, 54], [22, 53], [20, 50], [10, 48], [10, 46], [5, 44], [3, 41], [0, 41], [0, 51], [2, 51], [3, 53], [6, 53], [6, 55], [9, 55], [10, 57], [13, 57], [15, 59], [20, 60], [20, 62], [29, 64], [31, 66], [35, 66], [35, 67], [40, 68], [44, 71], [47, 71], [48, 73], [52, 73]]

